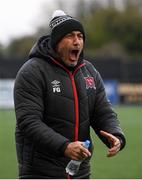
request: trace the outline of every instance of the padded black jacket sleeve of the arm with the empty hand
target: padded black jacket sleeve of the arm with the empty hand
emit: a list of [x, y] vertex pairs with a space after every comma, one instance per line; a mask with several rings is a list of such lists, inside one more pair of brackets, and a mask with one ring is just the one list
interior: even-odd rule
[[100, 130], [107, 131], [117, 136], [121, 141], [121, 149], [123, 149], [126, 143], [125, 136], [120, 128], [117, 114], [114, 112], [111, 103], [107, 99], [103, 80], [98, 72], [96, 75], [96, 100], [94, 109], [95, 112], [91, 125], [96, 134], [108, 147], [110, 147], [110, 144], [107, 139], [100, 134]]

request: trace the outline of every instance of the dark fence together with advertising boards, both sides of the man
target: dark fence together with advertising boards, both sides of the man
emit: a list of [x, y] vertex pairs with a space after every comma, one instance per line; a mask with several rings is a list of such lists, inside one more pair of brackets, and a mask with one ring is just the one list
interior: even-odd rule
[[[90, 61], [103, 77], [108, 98], [113, 104], [142, 104], [142, 61]], [[0, 107], [13, 107], [12, 83], [23, 63], [0, 59]]]

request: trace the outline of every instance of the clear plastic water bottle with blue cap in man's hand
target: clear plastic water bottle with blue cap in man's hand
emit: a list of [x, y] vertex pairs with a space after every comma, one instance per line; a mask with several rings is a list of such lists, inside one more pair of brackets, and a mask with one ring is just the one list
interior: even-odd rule
[[[86, 140], [86, 141], [83, 143], [83, 146], [84, 146], [85, 148], [87, 148], [87, 149], [89, 148], [89, 145], [90, 145], [90, 141], [89, 141], [89, 140]], [[71, 176], [77, 174], [81, 163], [82, 163], [82, 160], [80, 160], [80, 161], [71, 160], [71, 161], [67, 164], [67, 166], [66, 166], [66, 173], [68, 173], [68, 174], [71, 175]]]

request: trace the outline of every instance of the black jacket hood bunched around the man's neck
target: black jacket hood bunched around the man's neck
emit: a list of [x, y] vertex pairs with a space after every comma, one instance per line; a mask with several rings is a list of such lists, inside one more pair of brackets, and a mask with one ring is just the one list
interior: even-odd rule
[[[49, 57], [52, 57], [56, 61], [59, 61], [61, 64], [66, 66], [62, 61], [62, 59], [59, 57], [59, 55], [56, 53], [56, 51], [51, 47], [50, 39], [51, 39], [50, 35], [40, 37], [39, 40], [34, 44], [32, 49], [30, 50], [29, 58], [37, 57], [45, 60], [49, 60], [49, 59], [51, 60], [51, 58]], [[83, 51], [80, 54], [80, 58], [77, 66], [81, 64], [82, 60], [83, 60]]]

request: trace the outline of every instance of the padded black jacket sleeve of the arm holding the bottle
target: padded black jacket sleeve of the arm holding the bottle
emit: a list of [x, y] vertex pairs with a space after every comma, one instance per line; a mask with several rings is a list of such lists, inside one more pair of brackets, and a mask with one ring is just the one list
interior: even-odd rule
[[[39, 68], [39, 67], [38, 67]], [[44, 82], [37, 67], [24, 65], [14, 86], [17, 127], [37, 147], [63, 155], [69, 140], [44, 123]]]

